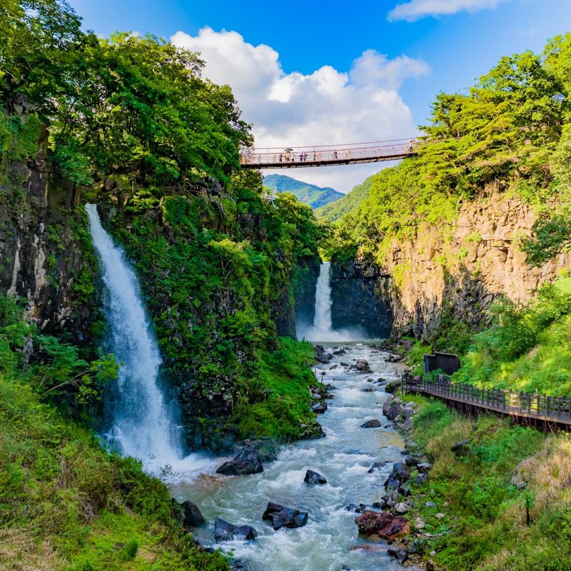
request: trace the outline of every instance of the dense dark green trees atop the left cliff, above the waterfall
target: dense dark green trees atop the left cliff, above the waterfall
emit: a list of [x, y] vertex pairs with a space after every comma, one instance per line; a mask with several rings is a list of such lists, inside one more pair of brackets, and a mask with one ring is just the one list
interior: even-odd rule
[[157, 191], [238, 168], [249, 127], [228, 86], [201, 79], [196, 54], [155, 36], [98, 39], [64, 0], [1, 12], [4, 161], [33, 156], [49, 124], [51, 158], [78, 185], [115, 176]]

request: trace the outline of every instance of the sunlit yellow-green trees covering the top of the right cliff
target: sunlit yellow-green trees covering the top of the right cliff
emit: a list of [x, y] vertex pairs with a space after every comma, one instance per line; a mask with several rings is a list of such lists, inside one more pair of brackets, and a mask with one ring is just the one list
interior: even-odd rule
[[[570, 43], [560, 36], [545, 54], [504, 57], [467, 94], [438, 94], [418, 157], [383, 169], [355, 195], [318, 212], [335, 220], [327, 256], [357, 253], [383, 264], [393, 241], [413, 239], [425, 227], [445, 235], [460, 202], [495, 181], [545, 209], [537, 239], [524, 246], [530, 260], [541, 263], [566, 246], [569, 214], [550, 221], [545, 205], [554, 195], [565, 203], [569, 188]], [[480, 238], [474, 233], [467, 242]]]

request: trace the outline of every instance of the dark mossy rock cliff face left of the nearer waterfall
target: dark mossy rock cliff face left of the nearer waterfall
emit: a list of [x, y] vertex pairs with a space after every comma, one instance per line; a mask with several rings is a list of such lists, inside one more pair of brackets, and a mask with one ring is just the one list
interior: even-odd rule
[[11, 163], [0, 181], [0, 292], [26, 300], [26, 317], [46, 333], [91, 336], [96, 260], [79, 191], [40, 154]]

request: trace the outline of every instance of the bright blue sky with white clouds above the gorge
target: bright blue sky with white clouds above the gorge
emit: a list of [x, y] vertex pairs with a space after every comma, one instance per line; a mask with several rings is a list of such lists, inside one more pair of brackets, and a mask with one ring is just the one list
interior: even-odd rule
[[[263, 146], [370, 140], [375, 133], [376, 140], [408, 137], [429, 115], [438, 91], [465, 89], [500, 56], [538, 51], [548, 38], [571, 31], [570, 0], [70, 4], [83, 16], [84, 27], [101, 36], [119, 29], [171, 39], [182, 32], [173, 41], [200, 49], [208, 64], [205, 74], [233, 86]], [[399, 14], [417, 19], [398, 19]], [[205, 27], [211, 30], [205, 33]], [[258, 49], [261, 44], [271, 50]], [[257, 91], [248, 91], [248, 81]], [[321, 103], [315, 101], [319, 94]], [[379, 167], [293, 171], [291, 176], [347, 191]]]

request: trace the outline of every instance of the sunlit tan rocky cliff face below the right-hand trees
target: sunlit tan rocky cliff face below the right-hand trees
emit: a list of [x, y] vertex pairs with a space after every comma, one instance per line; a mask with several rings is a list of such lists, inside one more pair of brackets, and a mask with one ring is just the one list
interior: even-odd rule
[[460, 207], [450, 231], [423, 228], [415, 241], [393, 243], [384, 270], [391, 276], [394, 332], [430, 334], [445, 308], [477, 326], [497, 295], [530, 298], [571, 263], [567, 254], [542, 268], [527, 266], [517, 241], [530, 235], [535, 220], [532, 206], [488, 188], [484, 198]]

